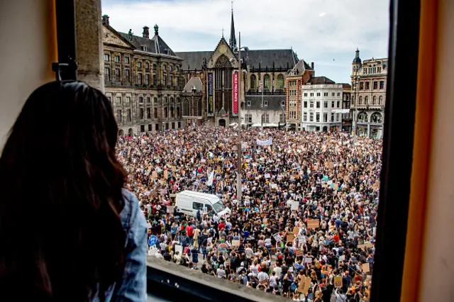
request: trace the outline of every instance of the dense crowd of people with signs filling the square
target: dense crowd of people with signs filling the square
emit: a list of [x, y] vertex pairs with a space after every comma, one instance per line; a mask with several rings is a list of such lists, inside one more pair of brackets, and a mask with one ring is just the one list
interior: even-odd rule
[[[149, 255], [294, 301], [368, 301], [382, 141], [348, 133], [199, 127], [120, 138]], [[188, 216], [180, 191], [230, 210]]]

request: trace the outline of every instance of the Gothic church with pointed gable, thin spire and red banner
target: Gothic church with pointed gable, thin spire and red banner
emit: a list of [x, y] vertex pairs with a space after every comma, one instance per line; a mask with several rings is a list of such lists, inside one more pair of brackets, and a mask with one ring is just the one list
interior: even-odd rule
[[[194, 117], [200, 120], [200, 123], [209, 125], [238, 123], [238, 108], [241, 106], [239, 100], [245, 100], [245, 96], [261, 98], [263, 92], [264, 96], [281, 96], [280, 99], [274, 98], [279, 99], [276, 101], [279, 104], [285, 101], [287, 74], [299, 62], [297, 54], [292, 49], [250, 50], [244, 47], [241, 50], [242, 91], [236, 91], [238, 88], [236, 72], [240, 65], [238, 46], [232, 10], [228, 41], [222, 36], [214, 50], [175, 53], [184, 60], [182, 62], [184, 82], [196, 77], [202, 83], [202, 108], [197, 112], [200, 113], [199, 116]], [[309, 65], [305, 63], [304, 65], [306, 69], [311, 69]], [[263, 87], [263, 91], [259, 91], [259, 87]], [[251, 100], [255, 99], [258, 98]], [[276, 108], [279, 111], [276, 114], [279, 116], [282, 113], [280, 105]]]

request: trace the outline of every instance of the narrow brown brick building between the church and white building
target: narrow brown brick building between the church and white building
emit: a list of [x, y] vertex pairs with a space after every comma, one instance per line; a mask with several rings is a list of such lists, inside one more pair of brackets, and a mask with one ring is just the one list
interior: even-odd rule
[[292, 70], [287, 72], [287, 94], [285, 113], [289, 128], [301, 130], [301, 95], [302, 87], [311, 77], [314, 77], [314, 62], [311, 67], [300, 60]]

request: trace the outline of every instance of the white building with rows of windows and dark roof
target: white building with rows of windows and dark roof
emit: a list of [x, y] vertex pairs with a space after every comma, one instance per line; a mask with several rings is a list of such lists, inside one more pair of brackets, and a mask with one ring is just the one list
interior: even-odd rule
[[343, 85], [327, 77], [311, 77], [302, 86], [301, 129], [333, 132], [341, 130]]

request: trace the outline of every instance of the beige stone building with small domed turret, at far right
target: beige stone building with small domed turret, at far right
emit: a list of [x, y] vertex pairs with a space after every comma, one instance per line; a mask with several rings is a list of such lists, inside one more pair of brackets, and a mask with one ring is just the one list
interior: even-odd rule
[[352, 63], [352, 111], [356, 120], [357, 135], [369, 138], [383, 137], [384, 105], [388, 59], [361, 61], [360, 50], [356, 50]]

